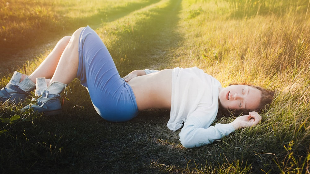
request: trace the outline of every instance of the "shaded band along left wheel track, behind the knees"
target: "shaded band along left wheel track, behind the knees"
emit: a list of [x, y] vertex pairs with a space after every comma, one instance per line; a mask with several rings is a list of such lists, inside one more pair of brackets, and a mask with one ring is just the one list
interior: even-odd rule
[[87, 18], [72, 19], [63, 17], [60, 23], [49, 21], [48, 26], [50, 27], [41, 26], [41, 29], [24, 32], [23, 36], [19, 36], [19, 39], [13, 39], [11, 42], [1, 39], [0, 76], [3, 75], [2, 73], [12, 73], [17, 67], [22, 67], [25, 62], [31, 61], [36, 55], [45, 53], [46, 49], [52, 49], [60, 38], [71, 35], [79, 27], [85, 27], [87, 25], [97, 27], [101, 23], [117, 20], [133, 11], [158, 1], [150, 0], [142, 3], [130, 3], [127, 6], [101, 11]]

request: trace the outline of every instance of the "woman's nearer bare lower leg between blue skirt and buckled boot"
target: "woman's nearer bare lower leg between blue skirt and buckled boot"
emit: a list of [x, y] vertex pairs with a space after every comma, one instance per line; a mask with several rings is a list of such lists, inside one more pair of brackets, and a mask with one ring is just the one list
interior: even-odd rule
[[54, 81], [69, 84], [73, 79], [76, 78], [79, 62], [79, 37], [82, 29], [83, 28], [79, 28], [73, 33], [69, 44], [66, 46], [64, 52], [61, 54], [60, 60], [56, 67], [55, 73], [51, 78], [50, 84]]

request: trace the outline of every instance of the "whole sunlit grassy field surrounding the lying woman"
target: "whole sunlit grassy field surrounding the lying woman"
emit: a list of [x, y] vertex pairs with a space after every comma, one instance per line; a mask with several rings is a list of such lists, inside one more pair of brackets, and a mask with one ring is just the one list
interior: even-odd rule
[[[262, 122], [187, 149], [150, 109], [112, 123], [74, 80], [63, 114], [0, 104], [0, 173], [310, 173], [309, 0], [0, 0], [0, 86], [89, 25], [121, 74], [197, 66], [277, 91]], [[218, 119], [231, 122], [233, 117]]]

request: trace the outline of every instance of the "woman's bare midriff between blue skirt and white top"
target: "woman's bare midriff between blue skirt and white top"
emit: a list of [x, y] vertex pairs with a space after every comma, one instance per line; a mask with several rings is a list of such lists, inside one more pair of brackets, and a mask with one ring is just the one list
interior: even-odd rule
[[171, 108], [172, 69], [135, 77], [128, 81], [139, 111]]

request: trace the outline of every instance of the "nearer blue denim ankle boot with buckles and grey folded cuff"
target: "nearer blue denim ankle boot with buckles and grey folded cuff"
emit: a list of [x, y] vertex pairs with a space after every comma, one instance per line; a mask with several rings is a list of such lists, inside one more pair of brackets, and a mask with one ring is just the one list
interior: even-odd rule
[[57, 115], [62, 112], [60, 104], [60, 93], [67, 85], [60, 82], [52, 82], [49, 87], [45, 78], [37, 78], [35, 95], [40, 96], [38, 99], [33, 98], [34, 104], [27, 105], [24, 109], [32, 108], [34, 111], [43, 112], [44, 115]]

